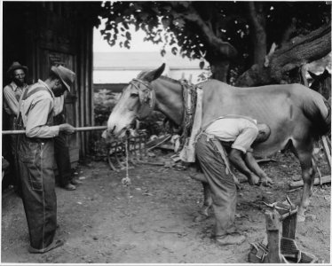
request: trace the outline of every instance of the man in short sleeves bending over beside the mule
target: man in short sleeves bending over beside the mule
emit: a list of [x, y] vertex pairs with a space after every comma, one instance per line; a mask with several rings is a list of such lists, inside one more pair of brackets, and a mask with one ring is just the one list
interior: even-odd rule
[[252, 155], [251, 145], [270, 136], [265, 124], [245, 116], [229, 115], [212, 121], [197, 137], [196, 156], [209, 184], [216, 218], [214, 237], [219, 245], [241, 244], [245, 237], [235, 230], [236, 185], [228, 159], [248, 177], [249, 184], [272, 184]]

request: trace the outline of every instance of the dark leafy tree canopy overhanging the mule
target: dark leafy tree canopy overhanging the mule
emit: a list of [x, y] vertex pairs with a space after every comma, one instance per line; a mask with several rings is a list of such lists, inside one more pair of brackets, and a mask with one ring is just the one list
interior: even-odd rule
[[[312, 30], [329, 24], [330, 6], [325, 2], [107, 2], [100, 17], [106, 19], [101, 33], [110, 45], [130, 48], [129, 26], [135, 25], [137, 30], [146, 32], [146, 41], [163, 42], [171, 47], [172, 53], [189, 59], [206, 59], [213, 78], [225, 82], [229, 80], [230, 69], [235, 70], [233, 73], [249, 69], [241, 76], [241, 84], [248, 81], [256, 85], [281, 82], [284, 72], [301, 65], [288, 62], [287, 67], [277, 67], [278, 57], [287, 58], [282, 51], [289, 51], [296, 36], [304, 38]], [[328, 34], [317, 37], [328, 43]], [[302, 43], [307, 43], [301, 40], [296, 41], [298, 50]], [[276, 50], [266, 57], [272, 45]], [[315, 53], [312, 51], [306, 61], [321, 56], [322, 51]], [[268, 66], [264, 66], [266, 59]], [[257, 79], [257, 73], [263, 71], [268, 75], [275, 67], [279, 75]]]

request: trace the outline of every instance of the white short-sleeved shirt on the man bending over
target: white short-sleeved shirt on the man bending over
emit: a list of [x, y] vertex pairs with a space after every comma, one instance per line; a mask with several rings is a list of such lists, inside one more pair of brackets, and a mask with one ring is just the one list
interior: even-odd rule
[[213, 121], [205, 133], [221, 141], [233, 142], [233, 149], [247, 153], [258, 135], [258, 128], [254, 120], [221, 117]]

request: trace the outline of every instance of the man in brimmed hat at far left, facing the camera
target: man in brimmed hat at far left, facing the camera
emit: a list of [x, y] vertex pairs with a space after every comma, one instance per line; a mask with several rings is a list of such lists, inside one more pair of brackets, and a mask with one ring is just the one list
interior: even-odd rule
[[[19, 113], [19, 101], [20, 96], [28, 88], [27, 84], [27, 72], [28, 67], [20, 65], [19, 62], [12, 62], [12, 66], [8, 68], [7, 75], [10, 78], [10, 83], [4, 87], [4, 111], [9, 118], [9, 130], [15, 129], [16, 118]], [[4, 126], [4, 125], [3, 125]], [[20, 191], [20, 178], [18, 173], [17, 162], [17, 135], [11, 135], [9, 139], [9, 145], [11, 149], [3, 147], [3, 155], [10, 162], [9, 172], [11, 173], [11, 183], [14, 186], [15, 192], [19, 195]], [[8, 143], [4, 137], [3, 144]], [[8, 137], [9, 138], [9, 137]], [[12, 154], [10, 154], [12, 153]], [[12, 156], [11, 156], [12, 155]]]

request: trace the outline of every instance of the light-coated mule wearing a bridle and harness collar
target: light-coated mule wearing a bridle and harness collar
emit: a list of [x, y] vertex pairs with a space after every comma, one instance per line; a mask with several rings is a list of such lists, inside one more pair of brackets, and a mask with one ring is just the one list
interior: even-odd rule
[[[108, 132], [123, 136], [132, 121], [144, 119], [153, 110], [181, 125], [185, 113], [181, 82], [162, 76], [164, 67], [163, 64], [155, 70], [141, 72], [123, 89], [107, 121]], [[296, 155], [304, 181], [298, 215], [304, 220], [316, 172], [312, 165], [313, 143], [330, 129], [328, 102], [301, 84], [236, 88], [208, 80], [197, 86], [203, 91], [202, 128], [225, 114], [246, 115], [271, 129], [264, 143], [253, 145], [255, 155], [267, 156], [286, 148]], [[204, 186], [205, 197], [208, 195], [206, 188], [207, 185]]]

